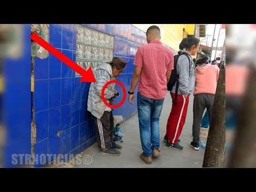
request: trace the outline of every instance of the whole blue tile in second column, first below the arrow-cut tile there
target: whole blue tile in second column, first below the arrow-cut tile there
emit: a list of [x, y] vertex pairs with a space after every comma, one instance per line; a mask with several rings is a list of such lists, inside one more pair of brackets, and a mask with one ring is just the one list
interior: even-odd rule
[[60, 106], [61, 79], [49, 79], [49, 108]]

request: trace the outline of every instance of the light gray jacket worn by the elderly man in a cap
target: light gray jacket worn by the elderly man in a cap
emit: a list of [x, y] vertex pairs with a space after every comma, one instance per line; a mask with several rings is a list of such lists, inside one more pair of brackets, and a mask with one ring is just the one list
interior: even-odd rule
[[[87, 110], [92, 113], [94, 117], [101, 118], [106, 105], [101, 98], [101, 91], [103, 86], [111, 81], [115, 80], [112, 68], [108, 63], [103, 63], [100, 65], [93, 73], [96, 83], [91, 83], [87, 101]], [[109, 99], [114, 96], [115, 83], [109, 84], [105, 91], [105, 99], [109, 103]]]

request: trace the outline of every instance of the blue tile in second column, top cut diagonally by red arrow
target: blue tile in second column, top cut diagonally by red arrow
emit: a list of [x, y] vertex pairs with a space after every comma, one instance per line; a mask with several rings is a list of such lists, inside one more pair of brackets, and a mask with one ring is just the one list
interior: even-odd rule
[[[61, 50], [58, 50], [61, 52]], [[49, 78], [61, 77], [61, 61], [50, 53], [49, 55]]]

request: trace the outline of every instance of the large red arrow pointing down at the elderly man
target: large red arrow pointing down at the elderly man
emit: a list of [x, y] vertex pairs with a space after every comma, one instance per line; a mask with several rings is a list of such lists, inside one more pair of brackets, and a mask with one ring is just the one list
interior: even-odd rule
[[96, 79], [94, 78], [91, 67], [89, 67], [89, 69], [87, 71], [84, 70], [82, 67], [77, 65], [74, 61], [69, 59], [65, 54], [58, 51], [55, 47], [53, 47], [52, 45], [50, 45], [49, 43], [44, 41], [44, 39], [42, 39], [35, 33], [33, 33], [30, 36], [30, 38], [34, 42], [36, 42], [39, 45], [41, 45], [42, 47], [44, 47], [44, 49], [46, 49], [47, 51], [52, 53], [55, 57], [57, 57], [59, 60], [61, 60], [63, 63], [65, 63], [68, 67], [70, 67], [71, 69], [76, 71], [78, 74], [80, 74], [82, 76], [82, 78], [80, 79], [80, 82], [96, 82]]

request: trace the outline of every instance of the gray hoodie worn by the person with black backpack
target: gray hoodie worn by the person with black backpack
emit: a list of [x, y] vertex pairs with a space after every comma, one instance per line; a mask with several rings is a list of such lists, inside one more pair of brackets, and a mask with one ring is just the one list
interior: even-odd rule
[[[180, 50], [181, 52], [187, 52], [185, 50]], [[188, 53], [188, 52], [187, 52]], [[189, 76], [189, 66], [190, 66], [190, 76]], [[177, 61], [177, 74], [179, 75], [179, 88], [178, 94], [183, 94], [185, 97], [188, 94], [192, 94], [195, 87], [195, 64], [193, 58], [190, 56], [190, 61], [185, 54], [180, 55]], [[172, 93], [175, 93], [176, 83], [172, 87]]]

